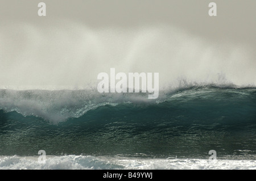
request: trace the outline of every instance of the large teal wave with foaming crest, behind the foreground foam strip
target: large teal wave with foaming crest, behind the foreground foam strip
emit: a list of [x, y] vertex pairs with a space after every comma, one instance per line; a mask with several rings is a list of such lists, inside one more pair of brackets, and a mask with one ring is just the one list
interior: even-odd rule
[[0, 155], [256, 159], [256, 89], [0, 90]]

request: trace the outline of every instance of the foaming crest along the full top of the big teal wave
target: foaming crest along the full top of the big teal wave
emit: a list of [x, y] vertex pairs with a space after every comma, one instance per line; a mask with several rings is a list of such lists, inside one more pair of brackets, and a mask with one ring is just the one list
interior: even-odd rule
[[[246, 102], [255, 99], [253, 92], [255, 87], [241, 87], [235, 85], [197, 85], [188, 84], [172, 87], [160, 91], [158, 99], [147, 99], [146, 93], [99, 93], [95, 90], [0, 90], [0, 109], [5, 112], [16, 111], [23, 116], [36, 116], [57, 124], [70, 118], [78, 118], [90, 110], [98, 107], [119, 104], [133, 106], [152, 105], [164, 102], [173, 102], [174, 98], [180, 97], [180, 102], [195, 99], [197, 95], [204, 95], [214, 99], [226, 99], [226, 94], [239, 95], [237, 99], [247, 99]], [[221, 94], [218, 94], [221, 93]], [[242, 96], [243, 95], [243, 96]], [[251, 96], [245, 96], [251, 95]], [[214, 98], [216, 96], [216, 98]], [[227, 95], [228, 96], [228, 95]], [[204, 98], [203, 96], [200, 99]], [[233, 103], [236, 102], [232, 99]]]

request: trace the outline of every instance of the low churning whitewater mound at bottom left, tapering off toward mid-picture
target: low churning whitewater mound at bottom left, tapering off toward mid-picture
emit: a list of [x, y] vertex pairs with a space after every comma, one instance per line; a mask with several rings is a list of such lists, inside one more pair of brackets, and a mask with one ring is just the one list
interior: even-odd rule
[[2, 156], [0, 169], [6, 170], [100, 170], [123, 169], [122, 166], [108, 163], [92, 156], [64, 155], [59, 157], [46, 157], [46, 163], [38, 162], [38, 157]]

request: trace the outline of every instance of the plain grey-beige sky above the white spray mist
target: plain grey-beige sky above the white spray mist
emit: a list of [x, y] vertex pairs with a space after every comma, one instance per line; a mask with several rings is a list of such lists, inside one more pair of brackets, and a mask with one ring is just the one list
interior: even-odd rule
[[[47, 5], [46, 17], [37, 14], [39, 2]], [[217, 17], [208, 15], [209, 2], [217, 3]], [[255, 7], [255, 0], [1, 0], [0, 20], [40, 24], [70, 19], [91, 27], [127, 28], [164, 23], [215, 40], [256, 45]]]

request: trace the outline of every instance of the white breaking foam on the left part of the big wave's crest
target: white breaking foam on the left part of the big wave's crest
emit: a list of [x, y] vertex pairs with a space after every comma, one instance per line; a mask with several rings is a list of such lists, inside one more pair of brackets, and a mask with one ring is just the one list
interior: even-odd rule
[[80, 117], [100, 106], [117, 106], [127, 102], [152, 102], [146, 95], [100, 94], [94, 90], [0, 90], [0, 109], [16, 111], [23, 116], [37, 116], [51, 123]]

